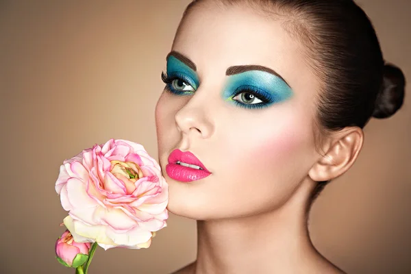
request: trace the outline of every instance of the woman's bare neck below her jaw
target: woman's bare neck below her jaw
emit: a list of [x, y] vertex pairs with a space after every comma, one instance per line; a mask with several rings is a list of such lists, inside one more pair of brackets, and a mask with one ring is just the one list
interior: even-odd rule
[[308, 256], [318, 256], [307, 227], [310, 188], [301, 184], [281, 208], [269, 212], [197, 221], [195, 273], [288, 273]]

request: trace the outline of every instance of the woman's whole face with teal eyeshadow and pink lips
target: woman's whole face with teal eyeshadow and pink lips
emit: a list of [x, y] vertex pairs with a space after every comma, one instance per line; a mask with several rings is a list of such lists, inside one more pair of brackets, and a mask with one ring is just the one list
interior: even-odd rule
[[[275, 210], [308, 177], [319, 155], [319, 83], [303, 45], [282, 23], [242, 6], [212, 4], [184, 19], [155, 109], [171, 212], [220, 219]], [[179, 169], [190, 167], [167, 167], [175, 149], [190, 151], [210, 174], [183, 182]]]

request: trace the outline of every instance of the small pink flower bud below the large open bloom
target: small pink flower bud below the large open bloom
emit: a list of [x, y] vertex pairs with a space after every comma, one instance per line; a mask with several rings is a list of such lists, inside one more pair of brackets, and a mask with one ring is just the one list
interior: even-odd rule
[[75, 242], [69, 230], [66, 230], [55, 242], [55, 254], [61, 264], [78, 267], [88, 260], [90, 246], [90, 242]]

